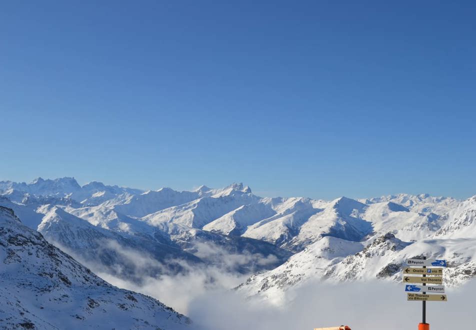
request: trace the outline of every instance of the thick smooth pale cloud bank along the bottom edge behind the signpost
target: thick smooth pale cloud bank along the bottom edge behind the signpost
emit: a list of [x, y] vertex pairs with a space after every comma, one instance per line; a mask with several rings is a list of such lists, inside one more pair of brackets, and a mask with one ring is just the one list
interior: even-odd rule
[[[455, 330], [472, 323], [472, 281], [448, 293], [448, 302], [427, 302], [432, 330]], [[403, 284], [383, 281], [307, 283], [286, 293], [276, 306], [245, 299], [233, 291], [213, 292], [193, 300], [188, 316], [199, 330], [298, 330], [346, 324], [353, 330], [416, 329], [421, 302], [406, 301]]]

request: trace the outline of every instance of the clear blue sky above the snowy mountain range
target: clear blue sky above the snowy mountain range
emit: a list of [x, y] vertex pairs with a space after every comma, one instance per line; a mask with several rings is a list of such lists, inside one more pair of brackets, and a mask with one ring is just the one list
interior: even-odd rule
[[0, 179], [474, 195], [475, 16], [474, 1], [4, 2]]

